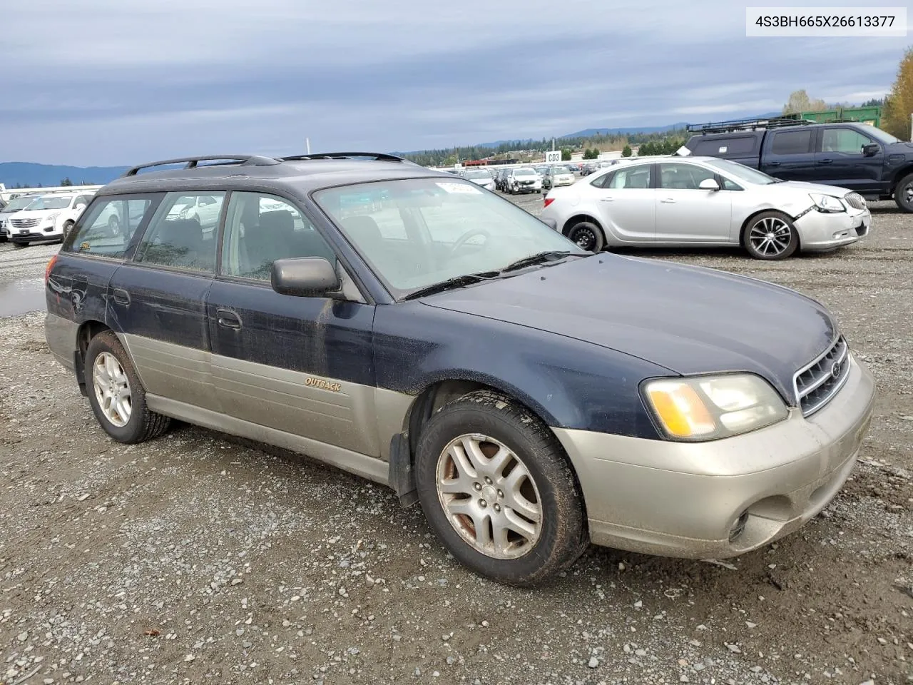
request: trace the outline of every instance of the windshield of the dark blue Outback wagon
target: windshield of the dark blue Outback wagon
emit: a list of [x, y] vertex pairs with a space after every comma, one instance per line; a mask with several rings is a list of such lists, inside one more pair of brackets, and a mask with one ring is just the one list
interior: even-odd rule
[[314, 199], [398, 300], [544, 251], [589, 254], [519, 206], [456, 179], [348, 185]]

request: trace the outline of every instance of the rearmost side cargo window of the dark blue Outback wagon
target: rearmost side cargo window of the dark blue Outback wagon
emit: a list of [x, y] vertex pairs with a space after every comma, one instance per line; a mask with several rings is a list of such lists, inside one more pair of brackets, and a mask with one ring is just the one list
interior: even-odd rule
[[159, 194], [97, 197], [79, 217], [61, 252], [122, 259], [137, 230], [148, 222]]

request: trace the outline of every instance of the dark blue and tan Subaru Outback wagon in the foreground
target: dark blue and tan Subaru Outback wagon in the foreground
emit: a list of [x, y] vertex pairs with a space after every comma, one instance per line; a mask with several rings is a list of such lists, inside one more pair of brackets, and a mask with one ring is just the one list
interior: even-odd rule
[[48, 265], [47, 342], [115, 440], [177, 418], [321, 459], [513, 585], [588, 543], [727, 557], [795, 531], [875, 393], [813, 300], [584, 252], [384, 154], [131, 169]]

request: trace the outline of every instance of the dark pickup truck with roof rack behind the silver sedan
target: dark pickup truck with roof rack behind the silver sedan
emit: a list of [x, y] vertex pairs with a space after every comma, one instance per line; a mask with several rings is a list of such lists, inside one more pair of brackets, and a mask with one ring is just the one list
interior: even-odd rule
[[839, 185], [913, 212], [913, 143], [864, 123], [739, 120], [688, 126], [691, 154], [724, 157], [784, 181]]

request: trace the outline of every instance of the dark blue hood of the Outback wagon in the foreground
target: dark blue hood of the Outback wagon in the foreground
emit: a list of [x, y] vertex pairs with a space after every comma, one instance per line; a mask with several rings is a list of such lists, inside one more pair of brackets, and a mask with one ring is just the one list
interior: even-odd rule
[[432, 295], [427, 305], [593, 342], [677, 374], [792, 377], [833, 342], [822, 305], [771, 283], [666, 261], [593, 255]]

